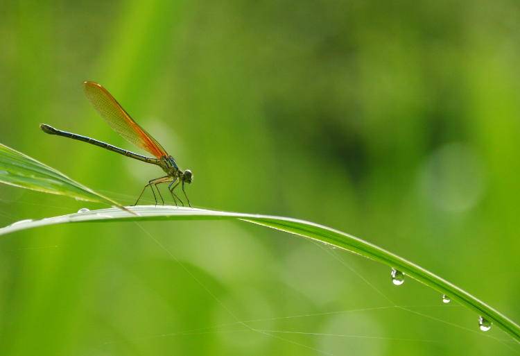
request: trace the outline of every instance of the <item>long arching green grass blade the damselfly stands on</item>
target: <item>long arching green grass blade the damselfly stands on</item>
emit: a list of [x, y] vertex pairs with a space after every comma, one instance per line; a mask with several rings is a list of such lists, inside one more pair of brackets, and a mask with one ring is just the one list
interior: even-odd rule
[[46, 226], [56, 223], [78, 223], [89, 221], [150, 221], [150, 220], [209, 220], [227, 219], [243, 220], [256, 223], [269, 228], [283, 230], [295, 235], [307, 237], [315, 241], [330, 244], [346, 251], [363, 255], [372, 260], [379, 261], [392, 268], [406, 273], [407, 276], [424, 283], [440, 294], [446, 294], [452, 300], [456, 300], [461, 305], [465, 305], [470, 310], [485, 317], [499, 328], [510, 334], [516, 341], [520, 342], [520, 326], [506, 316], [497, 312], [489, 305], [478, 300], [466, 291], [456, 287], [447, 280], [436, 276], [430, 271], [426, 271], [417, 264], [405, 260], [383, 248], [379, 248], [358, 237], [348, 235], [345, 232], [327, 228], [317, 223], [309, 221], [291, 219], [288, 217], [274, 217], [259, 214], [243, 214], [238, 212], [220, 212], [215, 210], [191, 209], [186, 207], [167, 207], [167, 206], [136, 206], [128, 207], [132, 213], [118, 209], [93, 210], [84, 213], [68, 214], [60, 217], [51, 217], [37, 221], [19, 221], [5, 228], [0, 228], [0, 235], [37, 226]]

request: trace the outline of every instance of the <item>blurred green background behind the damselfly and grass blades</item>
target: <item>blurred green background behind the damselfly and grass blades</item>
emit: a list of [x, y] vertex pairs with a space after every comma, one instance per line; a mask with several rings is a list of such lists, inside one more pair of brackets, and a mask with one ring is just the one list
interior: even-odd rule
[[[3, 144], [133, 203], [157, 167], [38, 128], [137, 151], [83, 96], [96, 81], [193, 171], [193, 205], [338, 228], [520, 320], [520, 3], [1, 7]], [[102, 207], [0, 199], [1, 226]], [[520, 351], [386, 266], [246, 223], [50, 226], [0, 255], [0, 355]]]

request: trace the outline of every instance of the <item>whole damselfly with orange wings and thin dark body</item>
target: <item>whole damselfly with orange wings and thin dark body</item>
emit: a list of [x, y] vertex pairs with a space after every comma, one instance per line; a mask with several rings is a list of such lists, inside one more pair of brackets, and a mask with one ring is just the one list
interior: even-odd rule
[[135, 144], [135, 146], [140, 147], [141, 149], [144, 149], [148, 153], [154, 155], [155, 158], [146, 157], [145, 155], [139, 155], [137, 153], [120, 149], [119, 147], [98, 141], [97, 139], [76, 135], [76, 133], [67, 133], [66, 131], [58, 130], [47, 124], [40, 124], [40, 128], [44, 131], [44, 133], [48, 133], [49, 135], [69, 137], [71, 139], [78, 139], [79, 141], [103, 147], [103, 149], [134, 158], [135, 160], [157, 164], [157, 166], [161, 167], [163, 171], [166, 172], [166, 176], [149, 180], [148, 184], [144, 186], [141, 194], [139, 194], [139, 198], [137, 198], [135, 205], [139, 203], [139, 199], [141, 199], [141, 196], [143, 196], [146, 187], [150, 187], [150, 189], [152, 189], [153, 196], [155, 198], [155, 205], [157, 205], [157, 196], [155, 196], [153, 187], [157, 189], [157, 194], [159, 194], [159, 197], [164, 204], [164, 199], [162, 198], [161, 192], [159, 191], [157, 185], [168, 183], [168, 191], [171, 193], [175, 205], [177, 205], [177, 199], [182, 205], [184, 205], [182, 199], [179, 198], [179, 196], [177, 196], [177, 194], [174, 192], [175, 188], [178, 185], [181, 185], [182, 192], [186, 197], [189, 207], [191, 207], [186, 190], [184, 190], [184, 184], [189, 184], [193, 180], [193, 174], [191, 171], [189, 169], [182, 171], [179, 166], [177, 166], [175, 159], [171, 155], [168, 155], [166, 150], [164, 150], [159, 142], [157, 142], [149, 133], [146, 132], [146, 130], [144, 130], [144, 128], [141, 128], [141, 126], [139, 126], [130, 117], [130, 115], [128, 115], [128, 113], [121, 107], [121, 105], [119, 105], [116, 99], [114, 99], [114, 96], [112, 96], [104, 87], [98, 83], [84, 82], [83, 89], [85, 90], [87, 98], [97, 110], [99, 115], [101, 115], [101, 117], [107, 121], [107, 124], [112, 129], [114, 129], [116, 133], [119, 133], [119, 135], [121, 135], [131, 144]]

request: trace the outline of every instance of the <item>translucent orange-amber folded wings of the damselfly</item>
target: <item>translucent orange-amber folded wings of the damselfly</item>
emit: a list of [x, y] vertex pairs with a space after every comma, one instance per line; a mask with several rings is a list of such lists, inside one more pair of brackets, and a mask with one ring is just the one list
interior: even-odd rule
[[141, 128], [104, 87], [98, 83], [84, 82], [83, 89], [99, 115], [121, 137], [156, 158], [168, 156], [159, 142]]

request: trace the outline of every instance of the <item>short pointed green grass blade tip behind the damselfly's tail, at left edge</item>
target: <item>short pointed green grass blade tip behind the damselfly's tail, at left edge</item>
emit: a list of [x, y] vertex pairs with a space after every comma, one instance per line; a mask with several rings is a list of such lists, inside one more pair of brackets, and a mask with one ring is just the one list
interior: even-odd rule
[[71, 196], [121, 207], [121, 204], [71, 180], [63, 173], [0, 144], [0, 182], [39, 192]]

